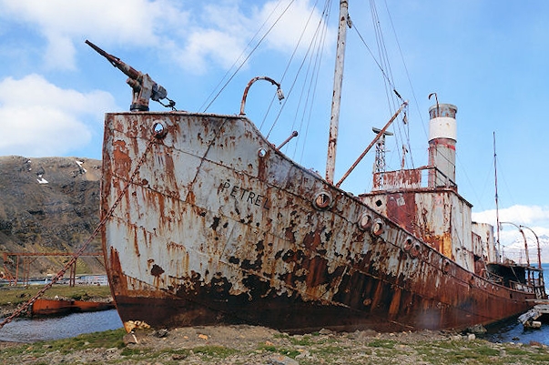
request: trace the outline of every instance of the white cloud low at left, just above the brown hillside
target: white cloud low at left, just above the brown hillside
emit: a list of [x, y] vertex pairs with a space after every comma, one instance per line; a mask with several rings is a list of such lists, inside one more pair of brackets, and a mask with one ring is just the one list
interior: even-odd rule
[[[89, 143], [92, 127], [114, 107], [102, 91], [87, 94], [59, 88], [38, 75], [0, 81], [1, 155], [59, 156]], [[93, 111], [93, 112], [92, 112]]]

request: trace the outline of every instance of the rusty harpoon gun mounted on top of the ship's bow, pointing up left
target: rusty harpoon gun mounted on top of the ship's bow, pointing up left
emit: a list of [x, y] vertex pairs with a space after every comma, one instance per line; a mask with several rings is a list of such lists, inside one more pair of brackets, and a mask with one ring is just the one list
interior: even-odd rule
[[[148, 111], [148, 99], [157, 101], [162, 106], [171, 107], [176, 110], [176, 102], [168, 98], [168, 91], [158, 85], [150, 76], [137, 71], [132, 66], [122, 62], [117, 56], [107, 54], [104, 50], [86, 40], [86, 45], [92, 47], [99, 55], [107, 58], [112, 66], [117, 67], [120, 71], [127, 75], [127, 85], [133, 90], [132, 103], [129, 110]], [[168, 104], [163, 104], [160, 100], [167, 99]]]

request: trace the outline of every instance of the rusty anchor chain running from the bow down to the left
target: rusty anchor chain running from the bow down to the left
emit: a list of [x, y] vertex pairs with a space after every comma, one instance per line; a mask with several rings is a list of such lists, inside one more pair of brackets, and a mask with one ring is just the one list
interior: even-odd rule
[[141, 155], [141, 157], [139, 158], [139, 161], [137, 162], [136, 168], [134, 169], [133, 173], [131, 174], [131, 176], [127, 180], [126, 186], [122, 189], [122, 191], [118, 195], [117, 199], [113, 203], [112, 207], [110, 209], [108, 209], [107, 214], [105, 215], [105, 217], [103, 219], [101, 219], [101, 221], [97, 225], [97, 228], [92, 232], [91, 236], [89, 238], [87, 238], [86, 242], [84, 242], [82, 247], [76, 251], [76, 254], [73, 256], [73, 258], [70, 259], [65, 264], [65, 267], [63, 269], [61, 269], [59, 272], [57, 272], [56, 276], [54, 278], [52, 278], [52, 280], [49, 283], [47, 283], [44, 286], [44, 288], [38, 290], [38, 292], [36, 293], [36, 295], [33, 298], [28, 299], [28, 301], [26, 301], [25, 304], [23, 304], [21, 307], [16, 309], [15, 312], [13, 312], [9, 317], [4, 319], [4, 321], [2, 323], [0, 323], [0, 329], [2, 329], [7, 323], [11, 322], [12, 320], [14, 320], [18, 316], [20, 316], [21, 313], [23, 313], [26, 309], [28, 309], [36, 301], [36, 299], [40, 298], [59, 279], [63, 278], [63, 276], [66, 273], [66, 270], [69, 269], [72, 265], [74, 265], [76, 263], [76, 260], [80, 257], [80, 255], [82, 255], [84, 253], [84, 250], [86, 249], [87, 245], [89, 245], [89, 243], [91, 243], [91, 241], [94, 240], [97, 237], [97, 235], [101, 231], [101, 228], [103, 228], [107, 224], [107, 220], [112, 217], [113, 213], [115, 212], [115, 209], [118, 206], [118, 203], [120, 202], [120, 200], [122, 200], [122, 198], [126, 194], [127, 189], [132, 184], [134, 178], [137, 176], [137, 173], [139, 172], [139, 168], [145, 162], [145, 157], [147, 157], [147, 153], [148, 153], [150, 147], [152, 147], [152, 145], [154, 144], [156, 139], [157, 138], [155, 137], [155, 135], [153, 135], [150, 138], [150, 140], [147, 142], [147, 147], [145, 147], [145, 151], [143, 152], [143, 155]]

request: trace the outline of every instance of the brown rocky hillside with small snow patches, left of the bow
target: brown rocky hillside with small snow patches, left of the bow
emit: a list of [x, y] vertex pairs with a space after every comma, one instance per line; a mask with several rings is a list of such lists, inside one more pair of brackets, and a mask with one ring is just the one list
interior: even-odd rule
[[[100, 176], [95, 159], [0, 157], [0, 252], [75, 252], [99, 223]], [[86, 251], [100, 250], [96, 238]], [[55, 274], [67, 260], [32, 259], [31, 275]], [[15, 272], [13, 259], [4, 265]], [[79, 259], [76, 270], [104, 272], [95, 258]]]

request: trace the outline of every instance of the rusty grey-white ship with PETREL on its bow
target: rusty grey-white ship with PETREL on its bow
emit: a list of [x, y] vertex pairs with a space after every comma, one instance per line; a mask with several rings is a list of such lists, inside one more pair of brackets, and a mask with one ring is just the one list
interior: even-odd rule
[[[334, 99], [347, 11], [341, 0]], [[426, 166], [379, 169], [371, 192], [355, 196], [333, 180], [339, 106], [320, 177], [259, 132], [244, 100], [240, 115], [150, 112], [166, 90], [88, 44], [133, 88], [130, 112], [106, 115], [101, 189], [125, 326], [461, 330], [545, 298], [541, 268], [503, 262], [493, 227], [473, 222], [458, 193], [456, 106], [430, 108]]]

